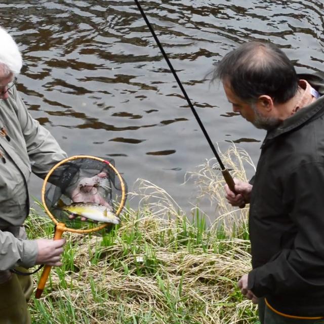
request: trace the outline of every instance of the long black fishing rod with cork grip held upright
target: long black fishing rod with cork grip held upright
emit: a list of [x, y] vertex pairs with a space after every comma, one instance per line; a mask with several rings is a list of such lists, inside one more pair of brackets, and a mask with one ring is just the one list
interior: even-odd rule
[[[187, 92], [186, 92], [185, 89], [183, 88], [182, 83], [181, 83], [181, 81], [180, 81], [180, 79], [179, 79], [179, 77], [178, 77], [178, 75], [177, 75], [175, 69], [173, 68], [173, 66], [172, 66], [172, 64], [171, 64], [171, 62], [170, 62], [170, 60], [169, 60], [169, 58], [168, 58], [167, 53], [165, 52], [165, 50], [163, 49], [163, 46], [161, 45], [159, 39], [157, 38], [157, 36], [156, 36], [156, 34], [155, 34], [155, 31], [154, 31], [154, 29], [153, 29], [151, 23], [150, 23], [149, 20], [147, 19], [147, 16], [146, 16], [145, 12], [143, 11], [143, 9], [142, 9], [142, 7], [141, 7], [139, 1], [138, 1], [138, 0], [134, 0], [134, 1], [135, 1], [136, 5], [137, 5], [137, 7], [138, 7], [138, 9], [139, 9], [139, 11], [140, 11], [142, 17], [144, 18], [144, 20], [145, 20], [145, 22], [146, 22], [146, 25], [147, 25], [147, 27], [149, 28], [149, 30], [150, 30], [150, 32], [151, 32], [153, 38], [155, 39], [155, 42], [156, 42], [158, 48], [160, 49], [161, 53], [163, 54], [165, 60], [167, 61], [168, 65], [169, 65], [169, 68], [170, 68], [171, 72], [173, 73], [173, 75], [174, 75], [174, 77], [175, 77], [175, 79], [176, 79], [176, 81], [177, 81], [177, 83], [178, 83], [178, 86], [180, 87], [180, 89], [181, 89], [181, 91], [182, 91], [184, 97], [186, 98], [186, 100], [187, 100], [187, 102], [188, 102], [188, 105], [189, 105], [189, 107], [190, 107], [190, 109], [191, 109], [193, 115], [195, 116], [195, 118], [196, 118], [196, 120], [197, 120], [197, 122], [198, 122], [198, 124], [199, 124], [199, 126], [200, 126], [201, 131], [203, 131], [203, 133], [204, 133], [204, 135], [205, 135], [205, 138], [207, 139], [207, 142], [208, 142], [209, 146], [211, 147], [211, 149], [212, 149], [212, 151], [213, 151], [213, 153], [214, 153], [214, 155], [215, 155], [215, 157], [216, 157], [216, 159], [217, 159], [217, 161], [218, 161], [218, 164], [219, 164], [219, 166], [220, 166], [220, 168], [221, 168], [222, 175], [223, 175], [223, 177], [224, 177], [224, 179], [225, 179], [225, 181], [226, 181], [228, 187], [230, 188], [230, 190], [231, 190], [232, 192], [235, 192], [235, 183], [234, 183], [234, 180], [233, 180], [232, 176], [230, 175], [229, 171], [225, 168], [225, 166], [224, 166], [224, 164], [223, 164], [221, 158], [219, 157], [219, 155], [218, 155], [218, 153], [217, 153], [217, 151], [216, 151], [216, 148], [215, 148], [213, 142], [211, 141], [211, 139], [210, 139], [210, 137], [209, 137], [209, 135], [208, 135], [208, 133], [207, 133], [207, 131], [206, 131], [206, 129], [205, 129], [203, 123], [201, 122], [201, 120], [200, 120], [200, 118], [199, 118], [199, 115], [197, 114], [195, 108], [193, 107], [193, 105], [192, 105], [192, 103], [191, 103], [191, 100], [190, 100], [190, 98], [189, 98], [188, 95], [187, 95]], [[245, 207], [245, 204], [244, 204], [244, 205], [241, 205], [241, 206], [239, 206], [239, 207], [240, 207], [240, 208], [243, 208], [243, 207]]]

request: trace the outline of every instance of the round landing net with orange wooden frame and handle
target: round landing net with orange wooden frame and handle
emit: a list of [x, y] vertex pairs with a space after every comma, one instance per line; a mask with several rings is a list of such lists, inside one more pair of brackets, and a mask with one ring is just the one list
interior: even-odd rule
[[[50, 170], [42, 187], [42, 201], [55, 223], [54, 239], [63, 232], [92, 233], [120, 223], [127, 186], [112, 159], [71, 156]], [[40, 298], [50, 274], [44, 267], [35, 293]]]

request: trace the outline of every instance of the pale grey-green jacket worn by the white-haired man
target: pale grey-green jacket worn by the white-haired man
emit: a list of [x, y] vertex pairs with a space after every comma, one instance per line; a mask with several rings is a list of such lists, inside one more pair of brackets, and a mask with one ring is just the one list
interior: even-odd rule
[[[0, 270], [35, 264], [37, 244], [16, 238], [12, 226], [21, 226], [29, 213], [27, 184], [33, 172], [45, 178], [66, 157], [56, 140], [29, 114], [15, 87], [0, 99]], [[11, 232], [13, 233], [11, 233]]]

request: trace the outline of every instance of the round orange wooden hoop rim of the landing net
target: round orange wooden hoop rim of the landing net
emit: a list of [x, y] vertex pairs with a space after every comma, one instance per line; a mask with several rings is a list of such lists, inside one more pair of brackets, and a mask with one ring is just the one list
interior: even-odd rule
[[[43, 206], [45, 208], [46, 213], [50, 216], [50, 218], [52, 219], [52, 221], [55, 223], [55, 225], [58, 225], [59, 222], [56, 220], [56, 218], [52, 215], [52, 213], [50, 212], [50, 210], [48, 209], [47, 205], [46, 205], [46, 201], [45, 201], [45, 191], [46, 191], [46, 185], [48, 183], [48, 180], [50, 178], [50, 176], [52, 175], [52, 173], [54, 172], [54, 170], [56, 170], [59, 166], [61, 166], [62, 164], [71, 161], [71, 160], [75, 160], [77, 158], [91, 158], [94, 160], [98, 160], [100, 162], [103, 162], [105, 164], [107, 164], [109, 166], [109, 168], [111, 168], [113, 170], [113, 172], [117, 175], [119, 181], [120, 181], [120, 186], [121, 186], [121, 200], [119, 203], [119, 207], [116, 211], [116, 215], [118, 216], [119, 213], [121, 212], [121, 210], [123, 210], [125, 203], [126, 203], [126, 188], [125, 188], [125, 183], [123, 178], [121, 177], [121, 175], [119, 174], [119, 172], [117, 171], [117, 169], [109, 162], [104, 160], [103, 158], [97, 157], [97, 156], [91, 156], [91, 155], [74, 155], [74, 156], [70, 156], [67, 158], [64, 158], [63, 160], [61, 160], [58, 164], [56, 164], [47, 174], [47, 176], [44, 179], [44, 183], [42, 186], [42, 202], [43, 202]], [[73, 229], [73, 228], [68, 228], [65, 227], [65, 231], [67, 232], [72, 232], [72, 233], [80, 233], [80, 234], [85, 234], [85, 233], [92, 233], [95, 231], [99, 231], [100, 229], [105, 228], [106, 226], [110, 225], [109, 223], [104, 223], [103, 225], [91, 228], [91, 229]]]

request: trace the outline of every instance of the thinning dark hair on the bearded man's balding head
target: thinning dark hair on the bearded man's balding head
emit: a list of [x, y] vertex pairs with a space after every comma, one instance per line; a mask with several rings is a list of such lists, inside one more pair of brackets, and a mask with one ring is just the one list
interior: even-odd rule
[[268, 95], [275, 103], [294, 97], [298, 77], [284, 52], [270, 43], [249, 42], [228, 53], [217, 64], [214, 79], [230, 85], [246, 102]]

